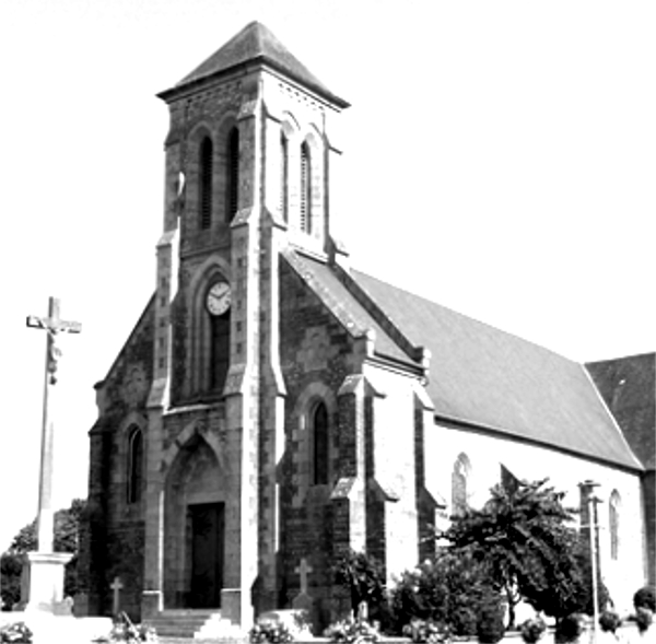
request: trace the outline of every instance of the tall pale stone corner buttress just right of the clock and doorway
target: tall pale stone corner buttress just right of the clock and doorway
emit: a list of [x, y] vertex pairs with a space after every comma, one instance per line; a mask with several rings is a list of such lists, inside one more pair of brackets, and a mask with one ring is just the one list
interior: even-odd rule
[[[225, 395], [227, 457], [234, 464], [225, 516], [221, 614], [243, 630], [253, 623], [258, 574], [260, 436], [260, 180], [261, 102], [257, 82], [244, 81], [238, 115], [239, 209], [232, 226], [231, 360]], [[251, 94], [250, 94], [251, 92]], [[250, 96], [250, 97], [248, 97]]]

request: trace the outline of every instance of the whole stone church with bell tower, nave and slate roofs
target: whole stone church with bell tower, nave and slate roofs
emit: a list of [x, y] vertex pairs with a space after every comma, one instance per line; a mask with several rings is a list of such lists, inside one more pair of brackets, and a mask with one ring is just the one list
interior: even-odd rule
[[655, 574], [655, 355], [583, 365], [352, 268], [330, 225], [349, 104], [263, 25], [159, 97], [156, 289], [89, 433], [89, 613], [118, 579], [136, 620], [225, 634], [303, 605], [326, 624], [338, 557], [393, 581], [502, 473], [549, 477], [582, 522], [599, 500], [629, 610]]

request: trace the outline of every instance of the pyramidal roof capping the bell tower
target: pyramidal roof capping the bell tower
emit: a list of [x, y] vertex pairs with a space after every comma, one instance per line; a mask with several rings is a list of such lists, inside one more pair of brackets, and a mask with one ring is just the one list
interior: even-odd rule
[[261, 23], [254, 21], [233, 36], [223, 47], [187, 74], [173, 90], [160, 94], [166, 98], [176, 90], [203, 79], [234, 71], [250, 62], [262, 62], [290, 77], [339, 107], [349, 104], [319, 81], [288, 48]]

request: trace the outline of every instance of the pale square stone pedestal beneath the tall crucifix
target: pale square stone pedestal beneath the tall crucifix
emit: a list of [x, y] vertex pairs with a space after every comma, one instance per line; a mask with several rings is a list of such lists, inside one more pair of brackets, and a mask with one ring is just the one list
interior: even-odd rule
[[71, 614], [63, 600], [63, 567], [73, 558], [70, 552], [27, 552], [21, 577], [21, 607], [50, 614]]

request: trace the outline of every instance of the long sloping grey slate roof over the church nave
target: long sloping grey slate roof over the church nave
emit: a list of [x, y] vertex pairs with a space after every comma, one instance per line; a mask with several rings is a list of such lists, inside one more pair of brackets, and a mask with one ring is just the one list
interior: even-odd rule
[[427, 393], [437, 417], [642, 469], [582, 364], [362, 272], [351, 276], [415, 346], [430, 349]]

